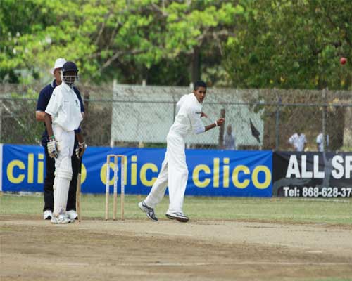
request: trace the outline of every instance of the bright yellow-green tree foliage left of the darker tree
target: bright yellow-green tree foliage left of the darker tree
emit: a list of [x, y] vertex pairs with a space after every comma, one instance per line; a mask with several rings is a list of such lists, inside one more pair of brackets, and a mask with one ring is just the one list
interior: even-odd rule
[[[189, 83], [194, 48], [219, 58], [242, 11], [233, 1], [0, 1], [1, 76], [41, 74], [65, 57], [86, 79], [135, 83], [153, 74], [158, 84]], [[155, 72], [166, 70], [173, 74], [158, 81]]]

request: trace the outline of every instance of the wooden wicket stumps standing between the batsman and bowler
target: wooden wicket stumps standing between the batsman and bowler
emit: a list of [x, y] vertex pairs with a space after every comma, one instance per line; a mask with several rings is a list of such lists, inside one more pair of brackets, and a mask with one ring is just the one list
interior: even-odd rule
[[125, 166], [125, 156], [124, 155], [114, 155], [109, 154], [106, 157], [106, 197], [105, 197], [105, 219], [108, 221], [108, 203], [109, 203], [109, 192], [110, 192], [110, 159], [113, 157], [113, 220], [116, 219], [116, 211], [118, 204], [118, 158], [121, 159], [121, 220], [124, 219], [124, 202], [125, 202], [125, 176], [124, 176], [124, 166]]

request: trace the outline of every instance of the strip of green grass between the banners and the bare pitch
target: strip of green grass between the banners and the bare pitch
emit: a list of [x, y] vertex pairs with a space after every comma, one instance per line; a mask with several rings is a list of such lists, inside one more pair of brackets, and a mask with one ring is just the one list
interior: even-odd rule
[[[137, 207], [144, 196], [125, 195], [125, 218], [146, 218]], [[110, 197], [110, 218], [112, 217]], [[82, 219], [104, 218], [105, 195], [82, 195]], [[42, 215], [42, 195], [8, 195], [0, 197], [0, 214]], [[168, 197], [156, 207], [158, 218], [165, 218]], [[191, 219], [270, 221], [281, 223], [329, 223], [352, 225], [352, 198], [301, 199], [251, 197], [186, 197], [184, 212]], [[118, 198], [118, 218], [120, 197]]]

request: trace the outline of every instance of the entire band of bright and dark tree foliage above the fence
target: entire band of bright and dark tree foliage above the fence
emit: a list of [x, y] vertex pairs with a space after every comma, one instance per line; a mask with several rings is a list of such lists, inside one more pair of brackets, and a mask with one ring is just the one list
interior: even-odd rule
[[83, 81], [348, 89], [351, 15], [348, 0], [1, 0], [0, 81], [65, 57]]

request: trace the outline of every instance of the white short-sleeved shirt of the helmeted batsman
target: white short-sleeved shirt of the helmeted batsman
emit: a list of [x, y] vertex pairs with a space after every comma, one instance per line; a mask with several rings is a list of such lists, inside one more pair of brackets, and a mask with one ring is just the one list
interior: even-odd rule
[[54, 125], [61, 126], [65, 131], [78, 129], [82, 121], [80, 100], [65, 82], [56, 86], [45, 112], [51, 115]]

